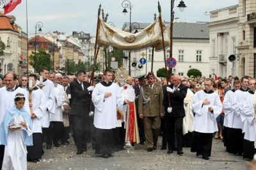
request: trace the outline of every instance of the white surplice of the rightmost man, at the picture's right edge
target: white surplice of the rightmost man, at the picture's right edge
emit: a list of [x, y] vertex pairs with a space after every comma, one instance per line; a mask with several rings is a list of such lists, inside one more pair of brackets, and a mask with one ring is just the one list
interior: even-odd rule
[[246, 118], [246, 123], [244, 123], [244, 139], [254, 142], [256, 139], [255, 134], [255, 111], [253, 105], [254, 93], [252, 91], [248, 91], [244, 94], [244, 104], [241, 113]]

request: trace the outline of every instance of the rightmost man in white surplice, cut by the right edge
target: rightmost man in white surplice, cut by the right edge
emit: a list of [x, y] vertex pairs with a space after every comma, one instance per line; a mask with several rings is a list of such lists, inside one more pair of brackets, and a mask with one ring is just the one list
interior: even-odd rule
[[244, 104], [241, 109], [243, 116], [246, 118], [244, 126], [244, 147], [243, 159], [253, 160], [256, 153], [254, 142], [256, 139], [255, 107], [253, 105], [255, 92], [255, 79], [249, 81], [250, 90], [244, 94]]

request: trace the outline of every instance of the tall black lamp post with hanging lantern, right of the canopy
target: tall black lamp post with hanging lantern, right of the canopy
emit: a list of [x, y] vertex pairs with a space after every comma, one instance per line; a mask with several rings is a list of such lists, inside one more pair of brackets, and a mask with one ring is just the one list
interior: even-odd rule
[[[174, 19], [174, 12], [173, 12], [173, 7], [174, 7], [174, 1], [171, 0], [171, 24], [170, 24], [170, 58], [172, 58], [172, 38], [173, 38], [173, 19]], [[179, 5], [177, 6], [180, 8], [180, 12], [184, 11], [184, 8], [186, 8], [186, 4], [184, 4], [184, 1], [181, 0]], [[164, 56], [165, 57], [165, 56]], [[172, 68], [170, 69], [170, 73], [172, 73]]]

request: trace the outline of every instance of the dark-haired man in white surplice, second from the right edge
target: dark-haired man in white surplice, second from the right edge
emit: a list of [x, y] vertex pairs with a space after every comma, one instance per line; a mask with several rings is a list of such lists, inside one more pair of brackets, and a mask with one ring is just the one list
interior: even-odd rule
[[[243, 115], [242, 109], [243, 109], [243, 104], [244, 104], [244, 94], [249, 91], [250, 88], [249, 86], [249, 79], [248, 77], [242, 77], [241, 79], [241, 88], [234, 93], [234, 98], [233, 98], [233, 105], [232, 105], [232, 110], [234, 111], [234, 114], [236, 116], [234, 119], [237, 117], [238, 120], [240, 121], [240, 127], [234, 128], [233, 129], [233, 141], [234, 141], [234, 150], [233, 154], [237, 154], [242, 156], [243, 155], [243, 140], [244, 140], [244, 130], [246, 126], [246, 118]], [[235, 120], [234, 120], [235, 121]]]

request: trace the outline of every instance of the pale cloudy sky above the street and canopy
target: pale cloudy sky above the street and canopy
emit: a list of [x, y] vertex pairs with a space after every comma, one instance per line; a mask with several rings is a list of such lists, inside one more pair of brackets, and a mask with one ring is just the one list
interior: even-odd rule
[[[157, 11], [157, 0], [129, 0], [132, 4], [132, 22], [148, 22], [154, 20]], [[209, 22], [211, 12], [227, 6], [238, 4], [238, 0], [183, 0], [187, 8], [180, 12], [177, 5], [180, 0], [175, 0], [175, 18], [180, 22]], [[129, 13], [123, 15], [123, 0], [27, 0], [28, 2], [28, 33], [35, 34], [36, 22], [42, 22], [42, 33], [59, 31], [72, 34], [72, 31], [84, 31], [95, 36], [97, 13], [99, 4], [108, 13], [108, 22], [113, 22], [115, 27], [122, 28], [124, 22], [129, 22]], [[160, 0], [162, 19], [170, 21], [171, 0]], [[129, 12], [129, 10], [128, 10]], [[16, 17], [16, 24], [26, 32], [26, 0], [8, 13]]]

